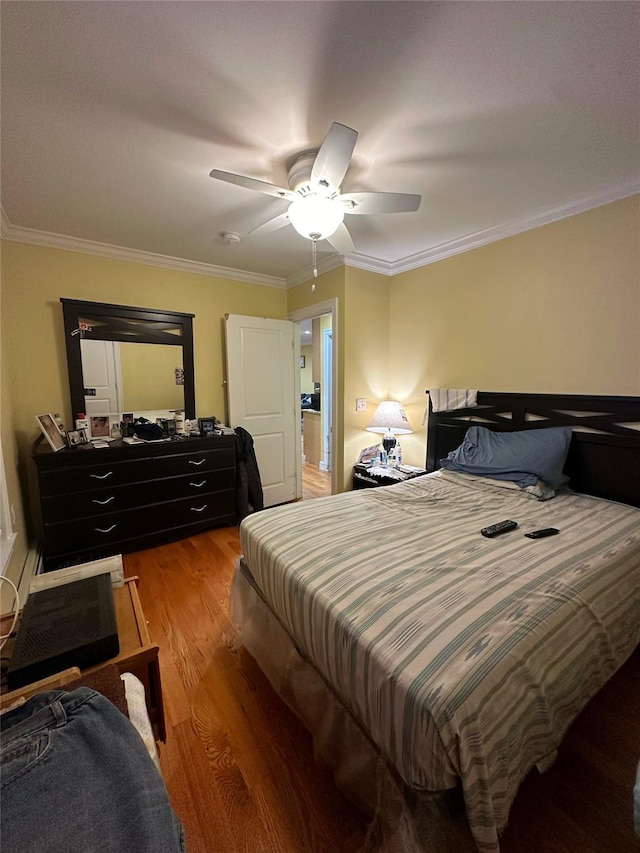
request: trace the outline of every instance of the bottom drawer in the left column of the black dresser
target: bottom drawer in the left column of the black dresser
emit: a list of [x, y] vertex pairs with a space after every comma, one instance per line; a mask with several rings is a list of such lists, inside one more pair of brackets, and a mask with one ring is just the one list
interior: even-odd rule
[[[152, 507], [111, 512], [92, 518], [45, 525], [45, 557], [102, 548], [120, 540], [151, 533], [156, 528]], [[117, 553], [115, 548], [113, 553]]]

